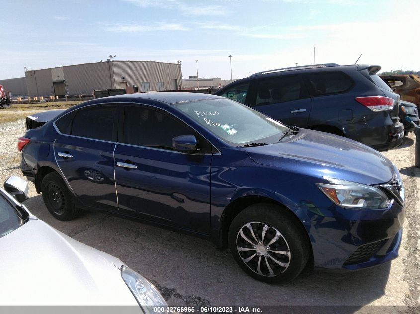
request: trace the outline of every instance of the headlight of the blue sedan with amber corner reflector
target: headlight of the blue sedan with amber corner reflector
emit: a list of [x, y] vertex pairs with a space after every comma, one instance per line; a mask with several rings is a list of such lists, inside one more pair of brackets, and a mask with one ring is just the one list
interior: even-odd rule
[[391, 200], [380, 189], [345, 180], [327, 179], [317, 187], [336, 205], [352, 209], [387, 208]]

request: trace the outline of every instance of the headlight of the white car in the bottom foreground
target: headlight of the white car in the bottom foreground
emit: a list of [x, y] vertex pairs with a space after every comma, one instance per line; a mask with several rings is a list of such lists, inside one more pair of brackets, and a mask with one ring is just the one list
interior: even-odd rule
[[[153, 311], [154, 307], [167, 305], [158, 289], [151, 282], [127, 266], [121, 267], [121, 277], [146, 314], [155, 313]], [[159, 313], [162, 313], [162, 311]]]

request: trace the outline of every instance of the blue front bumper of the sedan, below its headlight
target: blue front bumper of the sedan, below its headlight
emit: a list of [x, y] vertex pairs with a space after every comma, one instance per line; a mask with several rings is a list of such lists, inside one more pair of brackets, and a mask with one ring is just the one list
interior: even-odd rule
[[332, 206], [311, 217], [315, 267], [355, 270], [398, 257], [405, 219], [395, 200], [386, 209], [352, 210]]

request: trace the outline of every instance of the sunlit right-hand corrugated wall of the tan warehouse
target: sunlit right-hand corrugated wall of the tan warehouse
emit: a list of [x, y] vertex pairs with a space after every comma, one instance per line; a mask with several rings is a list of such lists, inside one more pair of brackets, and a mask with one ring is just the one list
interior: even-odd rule
[[[120, 82], [127, 86], [138, 86], [149, 82], [150, 90], [157, 91], [157, 82], [164, 82], [165, 90], [173, 90], [173, 79], [182, 82], [181, 66], [174, 63], [156, 61], [112, 61], [113, 88], [120, 88]], [[124, 79], [122, 79], [124, 77]]]

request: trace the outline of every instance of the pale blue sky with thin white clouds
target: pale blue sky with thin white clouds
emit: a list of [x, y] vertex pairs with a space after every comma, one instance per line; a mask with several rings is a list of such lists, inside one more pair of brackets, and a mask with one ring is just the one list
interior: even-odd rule
[[[114, 60], [243, 78], [313, 63], [420, 70], [419, 0], [0, 0], [0, 79]], [[196, 60], [198, 60], [196, 62]]]

